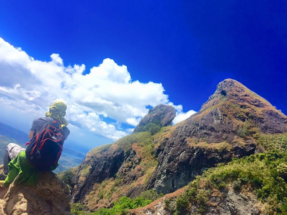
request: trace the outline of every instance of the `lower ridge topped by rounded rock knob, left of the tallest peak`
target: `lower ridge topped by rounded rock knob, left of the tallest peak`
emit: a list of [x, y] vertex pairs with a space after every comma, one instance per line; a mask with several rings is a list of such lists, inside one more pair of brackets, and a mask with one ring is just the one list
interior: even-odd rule
[[167, 128], [162, 125], [170, 125], [174, 117], [172, 106], [158, 105], [149, 110], [137, 127], [144, 131], [88, 152], [71, 183], [72, 202], [85, 202], [95, 210], [111, 206], [119, 196], [140, 194], [156, 165], [152, 136]]

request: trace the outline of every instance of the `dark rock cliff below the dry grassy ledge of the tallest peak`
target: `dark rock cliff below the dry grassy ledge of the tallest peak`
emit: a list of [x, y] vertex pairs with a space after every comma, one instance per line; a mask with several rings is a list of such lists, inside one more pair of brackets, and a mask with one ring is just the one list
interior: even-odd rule
[[166, 150], [158, 157], [160, 163], [150, 177], [146, 190], [155, 189], [164, 194], [173, 192], [201, 175], [203, 170], [218, 163], [227, 163], [234, 157], [254, 154], [255, 150], [254, 143], [245, 146], [223, 144], [218, 148], [216, 144], [190, 147], [186, 142], [166, 145]]

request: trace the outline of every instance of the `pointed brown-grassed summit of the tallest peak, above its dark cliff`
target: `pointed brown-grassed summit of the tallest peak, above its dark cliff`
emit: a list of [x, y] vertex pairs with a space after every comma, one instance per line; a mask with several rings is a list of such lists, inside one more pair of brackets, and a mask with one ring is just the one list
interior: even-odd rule
[[232, 122], [231, 130], [236, 130], [238, 126], [248, 121], [263, 133], [287, 131], [287, 117], [280, 110], [233, 79], [220, 82], [199, 112], [189, 119], [199, 122], [203, 116], [217, 114], [213, 112], [222, 116], [222, 123]]

